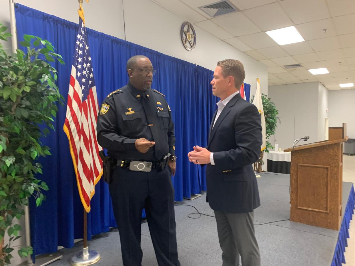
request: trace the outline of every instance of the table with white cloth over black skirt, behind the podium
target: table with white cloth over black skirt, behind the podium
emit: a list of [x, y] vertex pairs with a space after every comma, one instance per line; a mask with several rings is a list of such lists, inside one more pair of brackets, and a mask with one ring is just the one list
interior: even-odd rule
[[291, 153], [283, 151], [270, 151], [267, 160], [267, 171], [272, 173], [290, 174]]

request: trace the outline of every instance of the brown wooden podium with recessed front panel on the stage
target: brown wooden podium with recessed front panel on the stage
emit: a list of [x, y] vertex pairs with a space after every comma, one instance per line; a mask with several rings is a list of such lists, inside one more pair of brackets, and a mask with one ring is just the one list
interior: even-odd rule
[[329, 140], [284, 150], [291, 151], [291, 221], [339, 230], [347, 139], [343, 123], [343, 127], [329, 128]]

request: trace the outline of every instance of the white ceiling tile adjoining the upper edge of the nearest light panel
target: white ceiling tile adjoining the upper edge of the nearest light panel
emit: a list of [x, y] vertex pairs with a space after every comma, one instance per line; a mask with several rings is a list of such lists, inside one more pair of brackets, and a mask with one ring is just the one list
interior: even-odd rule
[[[263, 31], [292, 26], [293, 23], [278, 3], [242, 11]], [[271, 19], [272, 18], [272, 19]]]

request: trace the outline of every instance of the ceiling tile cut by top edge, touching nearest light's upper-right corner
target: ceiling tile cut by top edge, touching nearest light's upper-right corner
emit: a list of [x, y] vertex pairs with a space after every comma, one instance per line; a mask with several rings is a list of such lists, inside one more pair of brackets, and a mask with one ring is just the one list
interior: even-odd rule
[[284, 0], [279, 3], [295, 24], [330, 17], [324, 0]]

